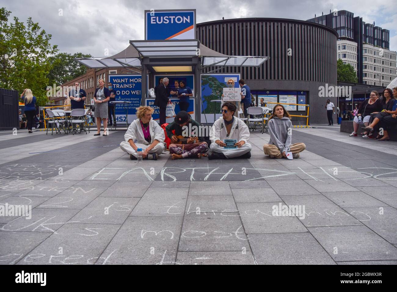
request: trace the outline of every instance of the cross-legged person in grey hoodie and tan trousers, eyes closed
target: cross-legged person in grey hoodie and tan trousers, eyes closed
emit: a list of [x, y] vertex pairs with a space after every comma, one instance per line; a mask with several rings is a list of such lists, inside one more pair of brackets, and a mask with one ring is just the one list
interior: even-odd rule
[[299, 152], [306, 149], [304, 143], [292, 141], [292, 122], [289, 113], [281, 104], [274, 106], [272, 115], [268, 120], [270, 140], [263, 145], [263, 151], [271, 158], [287, 158], [287, 152], [292, 152], [293, 158], [299, 157]]

